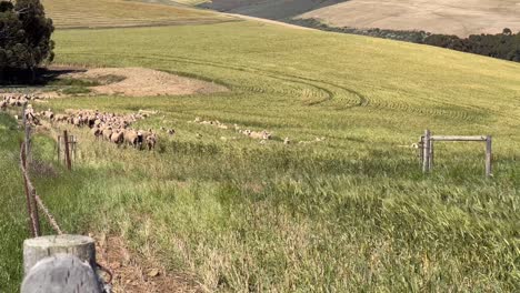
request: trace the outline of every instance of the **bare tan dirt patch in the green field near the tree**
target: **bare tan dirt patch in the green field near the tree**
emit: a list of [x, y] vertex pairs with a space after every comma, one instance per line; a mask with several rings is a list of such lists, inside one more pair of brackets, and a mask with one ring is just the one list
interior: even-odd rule
[[146, 68], [86, 69], [60, 78], [98, 81], [102, 84], [91, 87], [90, 90], [98, 94], [109, 95], [184, 95], [228, 91], [226, 87], [217, 83]]

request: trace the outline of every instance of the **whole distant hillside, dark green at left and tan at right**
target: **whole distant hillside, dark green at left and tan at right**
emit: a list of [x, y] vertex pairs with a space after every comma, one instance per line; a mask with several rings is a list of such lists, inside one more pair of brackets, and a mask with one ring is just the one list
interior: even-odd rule
[[[181, 1], [180, 1], [181, 2]], [[432, 33], [520, 31], [520, 0], [214, 0], [200, 7], [274, 20], [318, 19], [332, 27]]]

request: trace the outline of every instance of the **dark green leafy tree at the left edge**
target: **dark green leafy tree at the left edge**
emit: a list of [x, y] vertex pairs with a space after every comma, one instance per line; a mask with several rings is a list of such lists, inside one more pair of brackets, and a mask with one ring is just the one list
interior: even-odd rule
[[39, 0], [0, 1], [0, 81], [33, 79], [36, 68], [51, 62], [53, 30]]

